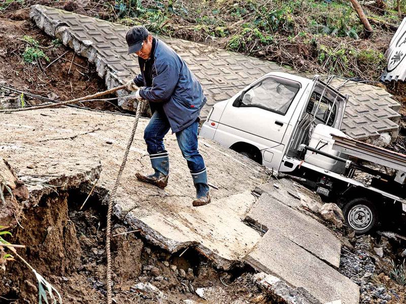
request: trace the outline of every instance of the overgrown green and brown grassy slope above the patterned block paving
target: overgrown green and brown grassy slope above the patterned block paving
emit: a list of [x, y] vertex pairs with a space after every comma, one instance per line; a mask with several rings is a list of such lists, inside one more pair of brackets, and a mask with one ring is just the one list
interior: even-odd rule
[[[377, 43], [362, 44], [363, 26], [344, 0], [116, 0], [111, 21], [144, 24], [157, 34], [265, 57], [299, 70], [376, 79], [386, 63], [388, 26], [397, 26], [401, 18], [393, 11], [396, 0], [387, 2], [385, 10], [363, 8], [378, 22], [372, 24], [370, 38]], [[406, 12], [406, 0], [401, 10]]]

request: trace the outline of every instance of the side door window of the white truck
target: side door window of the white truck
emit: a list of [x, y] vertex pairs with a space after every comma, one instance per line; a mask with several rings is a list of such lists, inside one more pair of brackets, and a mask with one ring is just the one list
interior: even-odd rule
[[266, 78], [244, 94], [240, 106], [260, 107], [285, 115], [299, 88], [296, 82]]

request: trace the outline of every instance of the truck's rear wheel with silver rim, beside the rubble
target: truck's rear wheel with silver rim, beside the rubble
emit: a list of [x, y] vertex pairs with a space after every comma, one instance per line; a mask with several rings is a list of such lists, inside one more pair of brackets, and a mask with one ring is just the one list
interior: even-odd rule
[[343, 208], [346, 223], [356, 234], [365, 234], [378, 223], [375, 205], [366, 198], [357, 198], [348, 202]]

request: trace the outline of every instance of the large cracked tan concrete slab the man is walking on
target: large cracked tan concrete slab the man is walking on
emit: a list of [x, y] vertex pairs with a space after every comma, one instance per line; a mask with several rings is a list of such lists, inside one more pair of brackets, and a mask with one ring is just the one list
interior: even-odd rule
[[[33, 174], [84, 174], [100, 164], [103, 171], [96, 192], [106, 194], [113, 186], [134, 118], [73, 108], [1, 113], [0, 157], [10, 161], [24, 181]], [[199, 149], [208, 167], [212, 203], [193, 208], [192, 178], [175, 134], [165, 137], [171, 174], [165, 190], [139, 182], [137, 171], [150, 172], [143, 139], [148, 120], [141, 119], [131, 146], [114, 214], [127, 221], [155, 244], [174, 252], [190, 245], [220, 268], [241, 263], [260, 235], [241, 221], [255, 202], [249, 189], [266, 182], [266, 169], [201, 139]], [[43, 177], [43, 182], [54, 177]]]

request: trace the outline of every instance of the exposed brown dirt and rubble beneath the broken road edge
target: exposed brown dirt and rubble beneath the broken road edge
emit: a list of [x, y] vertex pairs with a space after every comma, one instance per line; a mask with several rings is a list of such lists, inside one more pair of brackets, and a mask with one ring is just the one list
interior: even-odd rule
[[[71, 191], [42, 199], [38, 206], [25, 210], [21, 220], [24, 229], [16, 228], [10, 240], [27, 244], [20, 254], [69, 303], [99, 303], [106, 295], [107, 210], [96, 200], [79, 210], [85, 198]], [[252, 282], [250, 269], [219, 272], [193, 249], [168, 254], [114, 222], [112, 240], [113, 290], [118, 303], [184, 303], [184, 299], [206, 303], [195, 289], [212, 286], [221, 291], [222, 303], [236, 299], [242, 303], [268, 302], [267, 295]], [[37, 302], [36, 279], [20, 261], [7, 264], [1, 281], [0, 302]], [[158, 289], [148, 290], [148, 283]]]

